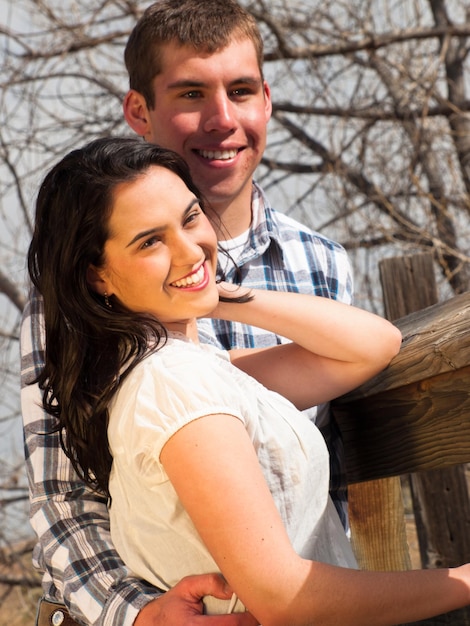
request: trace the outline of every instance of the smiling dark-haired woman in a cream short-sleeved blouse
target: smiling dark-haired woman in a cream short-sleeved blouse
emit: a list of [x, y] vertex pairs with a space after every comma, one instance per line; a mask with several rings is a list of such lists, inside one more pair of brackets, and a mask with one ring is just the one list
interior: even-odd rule
[[[398, 330], [326, 298], [218, 284], [180, 157], [136, 139], [70, 153], [41, 187], [28, 264], [44, 299], [44, 407], [109, 494], [136, 575], [170, 588], [220, 571], [234, 595], [207, 611], [246, 607], [264, 626], [392, 625], [470, 601], [468, 566], [354, 569], [324, 442], [299, 412], [383, 369]], [[221, 352], [198, 343], [203, 316], [291, 343]]]

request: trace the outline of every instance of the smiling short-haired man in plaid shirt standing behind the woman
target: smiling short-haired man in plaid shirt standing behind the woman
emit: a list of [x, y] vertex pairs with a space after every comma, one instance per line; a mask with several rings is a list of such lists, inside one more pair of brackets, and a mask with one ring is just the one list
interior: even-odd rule
[[[223, 268], [228, 280], [350, 303], [344, 250], [273, 211], [253, 182], [271, 115], [262, 58], [255, 21], [233, 0], [156, 2], [126, 47], [130, 91], [124, 115], [146, 141], [172, 148], [188, 162], [217, 214], [214, 226], [221, 244], [236, 262], [237, 268]], [[223, 591], [217, 578], [186, 579], [160, 594], [124, 568], [109, 539], [106, 502], [74, 475], [59, 434], [42, 434], [47, 426], [50, 430], [51, 420], [38, 406], [37, 387], [25, 386], [42, 363], [41, 317], [41, 302], [33, 294], [22, 329], [22, 411], [31, 521], [39, 537], [35, 561], [46, 572], [46, 598], [65, 603], [90, 626], [204, 626], [208, 620], [207, 626], [249, 626], [246, 615], [200, 615], [200, 597]], [[200, 332], [201, 338], [225, 348], [284, 341], [220, 321], [204, 320]], [[322, 415], [328, 440], [331, 423], [327, 411]], [[340, 440], [333, 437], [329, 443], [337, 461]], [[345, 493], [332, 495], [344, 521]], [[65, 614], [62, 606], [46, 605], [42, 616], [48, 619], [54, 611], [58, 626]]]

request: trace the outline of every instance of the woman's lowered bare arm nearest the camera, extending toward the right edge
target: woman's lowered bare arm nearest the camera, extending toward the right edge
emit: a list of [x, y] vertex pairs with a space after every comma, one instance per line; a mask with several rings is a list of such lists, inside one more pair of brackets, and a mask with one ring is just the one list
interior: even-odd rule
[[222, 573], [263, 626], [390, 626], [470, 603], [468, 566], [372, 573], [300, 558], [232, 416], [191, 422], [161, 460]]

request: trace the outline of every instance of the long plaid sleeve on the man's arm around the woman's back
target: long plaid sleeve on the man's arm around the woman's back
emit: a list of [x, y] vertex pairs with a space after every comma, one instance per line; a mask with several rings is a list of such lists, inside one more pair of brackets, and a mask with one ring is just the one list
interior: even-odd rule
[[29, 384], [43, 365], [43, 313], [33, 293], [21, 328], [21, 408], [30, 521], [38, 543], [34, 565], [42, 570], [46, 597], [64, 603], [87, 626], [131, 626], [162, 592], [129, 576], [109, 532], [106, 499], [81, 481], [63, 453], [40, 390]]

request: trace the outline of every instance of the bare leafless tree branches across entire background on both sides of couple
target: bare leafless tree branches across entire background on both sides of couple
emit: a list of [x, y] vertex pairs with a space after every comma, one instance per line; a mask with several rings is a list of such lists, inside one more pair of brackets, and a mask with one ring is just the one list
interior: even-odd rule
[[[276, 208], [348, 249], [361, 306], [381, 311], [381, 257], [423, 250], [434, 255], [441, 298], [467, 290], [468, 3], [242, 2], [266, 41], [274, 113], [257, 178]], [[72, 147], [130, 132], [122, 54], [148, 4], [0, 0], [0, 428], [19, 424], [24, 259], [39, 180]], [[8, 467], [4, 494], [18, 465]], [[21, 472], [16, 480], [26, 498]]]

